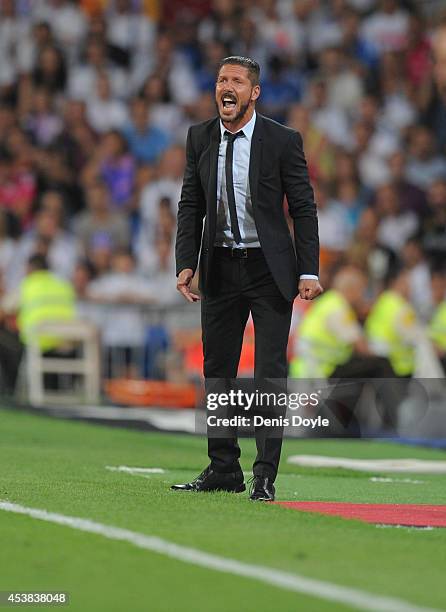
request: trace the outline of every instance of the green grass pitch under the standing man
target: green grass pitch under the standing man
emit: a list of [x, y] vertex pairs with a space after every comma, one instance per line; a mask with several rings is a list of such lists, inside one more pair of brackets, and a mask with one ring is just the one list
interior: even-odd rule
[[[242, 440], [249, 471], [252, 440]], [[285, 441], [278, 499], [446, 503], [446, 476], [422, 484], [388, 474], [288, 465], [291, 454], [444, 459], [385, 442]], [[446, 609], [446, 529], [379, 528], [253, 504], [247, 493], [169, 490], [206, 465], [199, 437], [143, 433], [0, 410], [0, 500], [89, 518], [214, 554], [414, 605]], [[105, 466], [161, 467], [150, 477]], [[395, 475], [395, 478], [403, 478]], [[67, 591], [82, 612], [336, 612], [352, 608], [196, 567], [126, 542], [0, 511], [0, 591]], [[6, 608], [5, 608], [6, 609]]]

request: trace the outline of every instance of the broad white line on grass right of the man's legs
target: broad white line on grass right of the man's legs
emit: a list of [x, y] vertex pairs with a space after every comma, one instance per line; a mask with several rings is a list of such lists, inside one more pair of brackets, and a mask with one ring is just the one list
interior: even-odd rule
[[350, 459], [322, 455], [292, 455], [288, 463], [305, 467], [346, 468], [359, 472], [412, 472], [418, 474], [446, 474], [446, 461], [426, 459]]

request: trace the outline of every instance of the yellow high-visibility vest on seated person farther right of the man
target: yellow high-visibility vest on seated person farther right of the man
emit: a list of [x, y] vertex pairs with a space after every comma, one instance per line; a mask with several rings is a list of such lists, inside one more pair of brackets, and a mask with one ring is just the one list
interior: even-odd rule
[[401, 326], [408, 331], [416, 322], [416, 313], [402, 295], [384, 291], [376, 300], [365, 322], [365, 331], [371, 349], [387, 357], [397, 376], [408, 376], [415, 368], [415, 349], [405, 337]]

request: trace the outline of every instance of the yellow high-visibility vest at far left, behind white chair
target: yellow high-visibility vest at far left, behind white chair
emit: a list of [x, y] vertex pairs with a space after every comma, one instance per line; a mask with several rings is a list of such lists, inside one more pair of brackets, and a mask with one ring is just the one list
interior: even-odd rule
[[[20, 338], [28, 344], [36, 325], [75, 318], [75, 295], [71, 284], [48, 270], [38, 270], [26, 276], [20, 285], [20, 308], [17, 318]], [[42, 351], [57, 348], [60, 338], [39, 335]]]

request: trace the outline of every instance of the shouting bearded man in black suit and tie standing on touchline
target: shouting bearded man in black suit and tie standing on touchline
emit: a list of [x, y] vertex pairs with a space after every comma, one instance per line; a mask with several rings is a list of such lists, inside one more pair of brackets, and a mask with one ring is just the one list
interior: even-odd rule
[[[293, 300], [318, 282], [317, 213], [300, 134], [256, 114], [260, 69], [249, 58], [221, 61], [219, 117], [189, 129], [178, 209], [177, 288], [189, 302], [199, 263], [204, 376], [236, 378], [245, 325], [255, 329], [256, 379], [286, 379]], [[286, 195], [294, 247], [283, 211]], [[205, 219], [203, 229], [203, 219]], [[272, 501], [281, 435], [256, 430], [252, 500]], [[210, 465], [181, 491], [245, 490], [236, 432], [208, 435]]]

